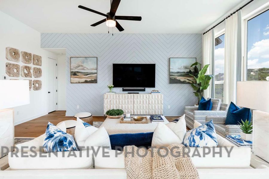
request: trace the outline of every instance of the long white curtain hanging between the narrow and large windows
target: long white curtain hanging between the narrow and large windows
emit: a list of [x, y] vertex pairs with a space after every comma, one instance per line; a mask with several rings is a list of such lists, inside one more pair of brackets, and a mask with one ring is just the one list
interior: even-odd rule
[[225, 20], [224, 37], [224, 103], [236, 102], [236, 63], [238, 14]]

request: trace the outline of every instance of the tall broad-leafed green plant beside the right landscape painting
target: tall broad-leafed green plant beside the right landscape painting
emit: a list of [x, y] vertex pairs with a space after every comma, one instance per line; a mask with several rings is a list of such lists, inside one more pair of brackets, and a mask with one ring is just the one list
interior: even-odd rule
[[195, 66], [194, 72], [189, 75], [193, 76], [195, 79], [196, 83], [192, 83], [191, 86], [193, 90], [195, 91], [193, 93], [198, 98], [198, 103], [199, 103], [202, 96], [204, 95], [204, 90], [206, 90], [209, 87], [209, 82], [211, 78], [213, 77], [213, 75], [205, 75], [205, 73], [207, 72], [207, 68], [209, 67], [209, 64], [205, 65], [201, 69], [201, 64], [196, 61], [194, 64], [191, 65], [191, 67], [193, 66]]

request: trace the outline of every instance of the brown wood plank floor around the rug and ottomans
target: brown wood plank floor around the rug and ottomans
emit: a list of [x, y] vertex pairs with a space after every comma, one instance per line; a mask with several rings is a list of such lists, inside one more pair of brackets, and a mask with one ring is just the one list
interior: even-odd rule
[[[168, 121], [173, 121], [179, 116], [165, 116]], [[54, 111], [42, 117], [27, 121], [15, 126], [16, 137], [38, 137], [44, 134], [48, 122], [58, 124], [61, 121], [72, 120], [72, 116], [65, 116], [65, 111]], [[104, 121], [103, 116], [93, 116], [93, 121]]]

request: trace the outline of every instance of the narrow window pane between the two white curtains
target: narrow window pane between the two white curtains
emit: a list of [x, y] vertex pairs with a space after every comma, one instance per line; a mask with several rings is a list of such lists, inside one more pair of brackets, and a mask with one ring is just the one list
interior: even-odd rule
[[215, 98], [223, 101], [224, 91], [224, 34], [215, 38]]

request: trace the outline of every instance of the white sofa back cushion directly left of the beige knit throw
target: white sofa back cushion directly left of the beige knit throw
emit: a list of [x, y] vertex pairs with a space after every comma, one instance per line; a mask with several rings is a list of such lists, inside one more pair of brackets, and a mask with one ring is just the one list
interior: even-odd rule
[[[99, 150], [98, 150], [99, 149]], [[109, 150], [102, 147], [94, 147], [95, 169], [124, 169], [123, 151]]]

